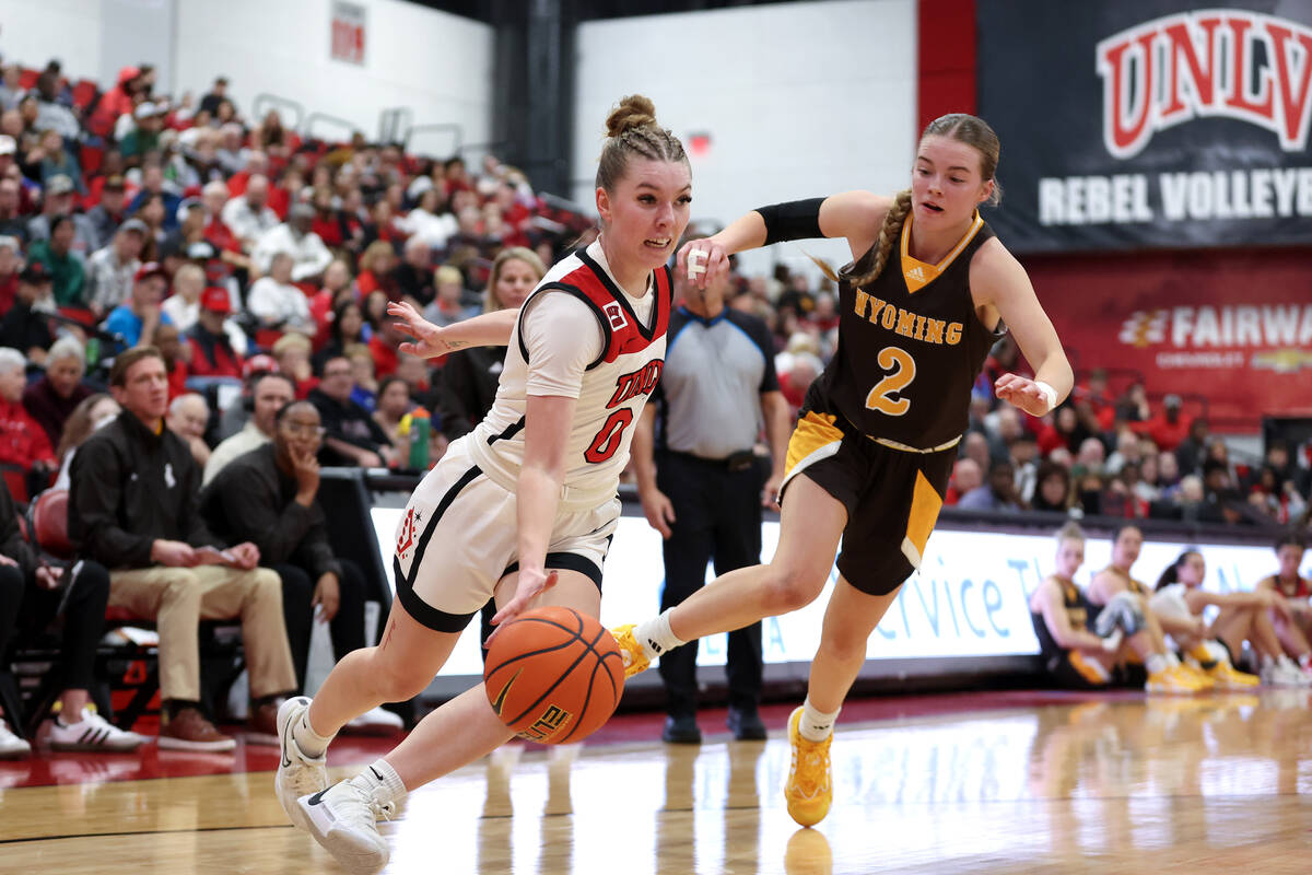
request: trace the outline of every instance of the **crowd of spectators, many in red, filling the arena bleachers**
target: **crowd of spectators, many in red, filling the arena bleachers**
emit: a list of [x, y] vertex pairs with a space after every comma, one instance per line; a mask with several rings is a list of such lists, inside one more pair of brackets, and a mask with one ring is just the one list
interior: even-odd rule
[[[425, 468], [487, 411], [500, 352], [408, 357], [388, 302], [409, 302], [438, 325], [516, 307], [547, 265], [596, 234], [588, 215], [548, 205], [493, 156], [471, 168], [362, 135], [306, 138], [277, 112], [245, 117], [226, 87], [219, 79], [199, 101], [173, 100], [157, 93], [150, 66], [125, 68], [104, 92], [68, 83], [55, 62], [4, 68], [0, 467], [20, 502], [66, 487], [79, 446], [119, 417], [109, 369], [134, 348], [159, 350], [164, 421], [205, 484], [261, 446], [290, 453], [276, 441], [274, 401], [291, 399], [314, 408], [323, 464]], [[834, 352], [833, 289], [785, 268], [733, 283], [732, 306], [771, 327], [795, 411]], [[1052, 415], [1029, 417], [992, 392], [997, 375], [1023, 369], [1009, 340], [993, 350], [947, 504], [1305, 518], [1302, 447], [1273, 443], [1261, 463], [1235, 464], [1181, 399], [1153, 404], [1141, 382], [1114, 396], [1101, 371], [1082, 375]], [[269, 374], [279, 379], [266, 383]], [[311, 589], [320, 598], [315, 580], [302, 588], [307, 605]]]

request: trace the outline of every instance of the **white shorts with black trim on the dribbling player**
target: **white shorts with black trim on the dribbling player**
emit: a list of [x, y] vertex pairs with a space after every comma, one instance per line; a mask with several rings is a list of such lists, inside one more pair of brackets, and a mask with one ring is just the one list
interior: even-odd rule
[[[520, 569], [513, 492], [493, 483], [466, 436], [446, 450], [415, 489], [396, 527], [396, 597], [405, 613], [438, 632], [459, 632]], [[559, 510], [547, 568], [577, 571], [601, 588], [601, 569], [619, 525], [619, 497], [585, 510]]]

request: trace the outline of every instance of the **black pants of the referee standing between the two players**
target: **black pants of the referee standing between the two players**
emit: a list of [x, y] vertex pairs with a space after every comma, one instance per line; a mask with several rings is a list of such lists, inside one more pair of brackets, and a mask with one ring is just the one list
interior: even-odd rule
[[[680, 453], [656, 459], [656, 485], [674, 505], [672, 535], [665, 542], [665, 586], [661, 610], [678, 605], [706, 584], [706, 564], [716, 576], [761, 561], [761, 470], [753, 464], [729, 471]], [[761, 623], [729, 632], [726, 674], [729, 707], [754, 710], [761, 701]], [[665, 711], [697, 712], [697, 641], [663, 653]]]

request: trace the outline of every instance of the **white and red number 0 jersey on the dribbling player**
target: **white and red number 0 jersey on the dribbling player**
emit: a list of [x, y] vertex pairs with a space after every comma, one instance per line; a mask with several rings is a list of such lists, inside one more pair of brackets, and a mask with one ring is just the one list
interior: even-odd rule
[[[592, 254], [589, 254], [589, 252]], [[597, 261], [598, 244], [559, 261], [521, 308], [510, 335], [501, 386], [487, 417], [464, 439], [483, 471], [514, 492], [523, 463], [523, 420], [527, 408], [529, 350], [521, 332], [523, 314], [539, 295], [568, 294], [584, 302], [601, 325], [601, 354], [583, 375], [565, 453], [562, 508], [590, 505], [615, 496], [619, 474], [628, 464], [634, 422], [656, 388], [665, 365], [665, 329], [672, 306], [669, 268], [655, 272], [648, 324]]]

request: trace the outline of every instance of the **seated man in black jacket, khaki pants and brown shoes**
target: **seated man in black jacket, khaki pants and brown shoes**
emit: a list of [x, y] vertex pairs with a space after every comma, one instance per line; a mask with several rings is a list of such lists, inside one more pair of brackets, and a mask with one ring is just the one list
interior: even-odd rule
[[73, 457], [68, 530], [79, 555], [110, 569], [109, 603], [159, 630], [161, 748], [231, 750], [201, 714], [201, 619], [241, 618], [255, 707], [252, 741], [277, 743], [278, 701], [297, 685], [282, 623], [282, 582], [257, 568], [260, 550], [230, 550], [198, 513], [201, 468], [164, 428], [168, 376], [154, 346], [114, 359], [118, 417]]

